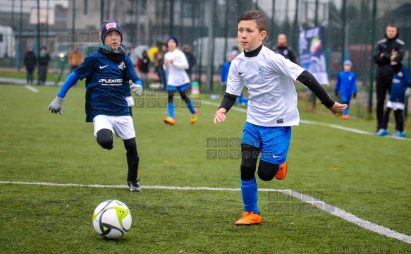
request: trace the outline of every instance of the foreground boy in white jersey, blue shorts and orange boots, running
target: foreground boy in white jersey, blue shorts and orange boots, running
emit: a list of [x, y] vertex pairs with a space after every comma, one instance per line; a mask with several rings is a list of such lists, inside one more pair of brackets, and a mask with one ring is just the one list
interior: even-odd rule
[[236, 225], [260, 224], [257, 207], [255, 171], [261, 154], [258, 176], [263, 181], [282, 180], [287, 174], [287, 153], [291, 126], [298, 125], [297, 92], [293, 80], [299, 80], [334, 114], [347, 107], [333, 102], [314, 76], [295, 63], [264, 47], [266, 21], [260, 11], [247, 11], [238, 19], [238, 41], [244, 52], [230, 66], [227, 90], [214, 123], [226, 120], [235, 99], [248, 88], [247, 120], [241, 141], [241, 194], [245, 213]]

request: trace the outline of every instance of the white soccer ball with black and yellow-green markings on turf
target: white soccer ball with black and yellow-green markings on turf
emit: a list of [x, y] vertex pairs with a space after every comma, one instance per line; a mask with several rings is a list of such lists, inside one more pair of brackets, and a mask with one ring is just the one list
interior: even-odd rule
[[127, 205], [118, 200], [106, 200], [97, 205], [92, 217], [94, 230], [109, 239], [124, 236], [130, 230], [131, 221]]

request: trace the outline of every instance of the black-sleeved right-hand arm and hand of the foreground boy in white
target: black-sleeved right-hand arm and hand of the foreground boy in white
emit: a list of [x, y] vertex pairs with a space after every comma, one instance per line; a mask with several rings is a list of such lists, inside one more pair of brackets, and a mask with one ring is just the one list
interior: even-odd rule
[[338, 102], [334, 102], [329, 95], [327, 94], [326, 90], [318, 83], [318, 81], [314, 78], [314, 75], [309, 73], [308, 71], [303, 71], [298, 77], [297, 80], [303, 83], [309, 90], [314, 92], [314, 95], [319, 98], [322, 104], [324, 104], [327, 109], [330, 109], [333, 114], [342, 112], [346, 107], [347, 104], [340, 104]]

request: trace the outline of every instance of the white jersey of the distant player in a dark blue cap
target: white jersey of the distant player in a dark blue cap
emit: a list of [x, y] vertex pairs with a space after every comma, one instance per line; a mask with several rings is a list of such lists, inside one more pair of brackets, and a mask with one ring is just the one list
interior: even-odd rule
[[167, 72], [167, 85], [180, 86], [190, 83], [190, 78], [185, 72], [188, 69], [188, 61], [185, 54], [180, 49], [175, 49], [173, 52], [167, 52], [164, 55], [164, 61], [173, 59], [173, 64], [164, 65], [164, 70]]

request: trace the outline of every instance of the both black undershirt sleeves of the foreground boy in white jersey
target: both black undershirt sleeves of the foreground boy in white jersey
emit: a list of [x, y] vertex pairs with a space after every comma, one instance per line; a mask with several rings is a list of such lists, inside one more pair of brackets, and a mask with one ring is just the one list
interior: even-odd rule
[[[318, 81], [314, 78], [314, 75], [309, 73], [308, 71], [303, 71], [298, 77], [297, 80], [304, 84], [309, 90], [314, 92], [314, 95], [319, 98], [322, 104], [328, 109], [333, 107], [335, 103], [324, 90], [323, 87], [318, 83]], [[228, 112], [231, 107], [233, 107], [235, 100], [237, 99], [237, 95], [231, 95], [228, 92], [224, 94], [223, 100], [221, 101], [219, 109], [223, 108], [226, 109]]]

